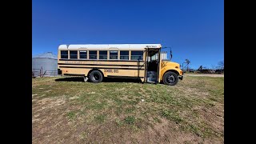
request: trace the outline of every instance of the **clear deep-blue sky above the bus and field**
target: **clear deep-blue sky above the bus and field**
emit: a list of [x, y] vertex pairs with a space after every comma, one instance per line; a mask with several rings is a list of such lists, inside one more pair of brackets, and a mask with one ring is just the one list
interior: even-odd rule
[[224, 59], [223, 0], [33, 0], [32, 55], [60, 44], [160, 43], [172, 61]]

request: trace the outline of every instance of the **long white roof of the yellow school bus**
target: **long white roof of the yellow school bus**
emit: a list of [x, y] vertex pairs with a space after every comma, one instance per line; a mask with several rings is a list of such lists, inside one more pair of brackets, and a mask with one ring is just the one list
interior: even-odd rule
[[74, 45], [60, 45], [58, 50], [75, 50], [75, 49], [133, 49], [133, 50], [144, 50], [145, 48], [159, 49], [161, 44], [74, 44]]

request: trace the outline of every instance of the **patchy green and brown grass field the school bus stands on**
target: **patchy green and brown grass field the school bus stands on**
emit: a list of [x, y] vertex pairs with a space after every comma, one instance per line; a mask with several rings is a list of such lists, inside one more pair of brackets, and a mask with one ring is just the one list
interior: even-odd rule
[[32, 79], [33, 143], [224, 143], [224, 78]]

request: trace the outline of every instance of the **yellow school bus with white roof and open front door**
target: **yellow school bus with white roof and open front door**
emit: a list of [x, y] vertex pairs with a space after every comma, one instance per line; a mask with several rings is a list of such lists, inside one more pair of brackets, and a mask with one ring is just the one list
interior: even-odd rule
[[103, 78], [140, 78], [174, 86], [183, 78], [180, 65], [161, 58], [161, 44], [85, 44], [58, 46], [58, 74]]

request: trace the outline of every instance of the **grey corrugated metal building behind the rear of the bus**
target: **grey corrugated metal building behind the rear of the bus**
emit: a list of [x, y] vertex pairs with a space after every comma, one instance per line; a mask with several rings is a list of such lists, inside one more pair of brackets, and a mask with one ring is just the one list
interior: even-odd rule
[[58, 58], [52, 52], [38, 54], [32, 57], [32, 76], [46, 77], [58, 74]]

